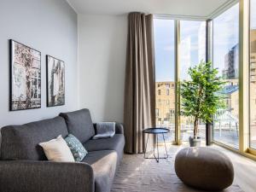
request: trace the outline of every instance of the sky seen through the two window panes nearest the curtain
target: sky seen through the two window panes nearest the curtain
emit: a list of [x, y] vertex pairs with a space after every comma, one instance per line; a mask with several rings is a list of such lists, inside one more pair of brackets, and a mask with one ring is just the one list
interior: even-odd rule
[[[205, 60], [205, 22], [181, 21], [181, 71]], [[199, 33], [201, 35], [199, 35]], [[203, 44], [199, 44], [201, 42]], [[174, 20], [154, 20], [155, 75], [156, 81], [174, 80]], [[203, 51], [203, 56], [199, 56]], [[181, 79], [186, 79], [181, 73]]]

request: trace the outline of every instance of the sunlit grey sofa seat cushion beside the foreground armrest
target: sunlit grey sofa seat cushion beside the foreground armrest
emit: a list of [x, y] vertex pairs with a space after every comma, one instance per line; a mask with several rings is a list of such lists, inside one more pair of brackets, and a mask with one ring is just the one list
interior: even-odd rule
[[91, 151], [82, 160], [82, 162], [90, 164], [93, 169], [96, 192], [110, 191], [117, 161], [117, 153], [111, 150]]

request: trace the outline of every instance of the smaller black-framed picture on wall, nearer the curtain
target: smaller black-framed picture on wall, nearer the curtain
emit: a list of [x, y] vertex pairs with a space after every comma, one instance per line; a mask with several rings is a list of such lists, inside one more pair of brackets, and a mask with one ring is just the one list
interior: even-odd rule
[[46, 55], [47, 107], [65, 105], [65, 63]]

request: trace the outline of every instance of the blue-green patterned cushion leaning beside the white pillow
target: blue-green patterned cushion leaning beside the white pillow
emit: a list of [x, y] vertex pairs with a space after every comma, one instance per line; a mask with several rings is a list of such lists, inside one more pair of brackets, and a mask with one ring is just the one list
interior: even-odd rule
[[67, 146], [70, 148], [75, 161], [83, 160], [85, 155], [88, 154], [82, 143], [79, 142], [79, 139], [72, 134], [68, 134], [65, 141], [67, 142]]

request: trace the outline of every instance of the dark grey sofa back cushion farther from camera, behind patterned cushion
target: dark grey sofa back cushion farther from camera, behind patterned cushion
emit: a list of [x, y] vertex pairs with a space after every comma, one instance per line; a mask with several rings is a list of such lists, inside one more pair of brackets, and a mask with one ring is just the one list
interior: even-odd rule
[[60, 116], [66, 120], [68, 132], [77, 137], [81, 143], [85, 143], [95, 135], [89, 109], [60, 113]]

